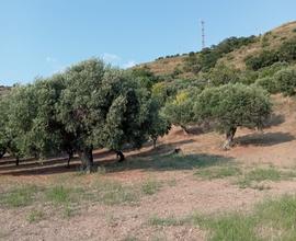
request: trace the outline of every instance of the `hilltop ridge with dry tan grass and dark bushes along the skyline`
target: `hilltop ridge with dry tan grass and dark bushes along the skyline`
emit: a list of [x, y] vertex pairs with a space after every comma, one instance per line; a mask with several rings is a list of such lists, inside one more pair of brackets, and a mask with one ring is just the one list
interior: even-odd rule
[[[187, 53], [175, 56], [160, 57], [155, 61], [138, 65], [135, 68], [148, 68], [151, 72], [157, 76], [174, 76], [177, 78], [194, 78], [192, 70], [189, 67], [191, 61], [190, 57], [203, 55], [203, 53], [208, 53], [212, 49], [220, 48], [220, 56], [216, 59], [217, 64], [224, 64], [226, 66], [235, 67], [239, 70], [246, 70], [246, 58], [248, 56], [257, 56], [262, 51], [269, 51], [278, 49], [283, 43], [289, 41], [295, 41], [296, 37], [296, 21], [285, 23], [274, 30], [271, 30], [259, 36], [250, 37], [229, 37], [219, 43], [218, 45], [210, 46], [202, 51]], [[235, 43], [237, 39], [242, 39], [242, 43]], [[246, 41], [247, 39], [247, 41]], [[235, 42], [234, 42], [235, 41]], [[235, 43], [234, 49], [227, 49], [228, 43]], [[232, 43], [231, 43], [232, 42]], [[244, 43], [243, 43], [244, 42]], [[224, 48], [224, 49], [223, 49]], [[219, 50], [220, 50], [219, 49]], [[230, 50], [230, 51], [229, 51]], [[212, 56], [210, 56], [212, 57]], [[197, 71], [198, 72], [198, 71]], [[195, 72], [196, 73], [196, 72]]]

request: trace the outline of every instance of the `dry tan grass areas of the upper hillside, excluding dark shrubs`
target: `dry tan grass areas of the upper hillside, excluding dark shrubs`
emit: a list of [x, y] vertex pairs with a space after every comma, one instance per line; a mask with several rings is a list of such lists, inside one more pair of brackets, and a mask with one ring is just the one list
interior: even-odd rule
[[[241, 46], [228, 54], [225, 54], [217, 62], [224, 62], [227, 66], [234, 66], [237, 69], [244, 70], [244, 59], [250, 55], [258, 55], [262, 50], [277, 49], [281, 44], [295, 39], [296, 21], [283, 24], [272, 31], [254, 37], [254, 42]], [[223, 42], [221, 42], [223, 43]], [[196, 53], [198, 54], [198, 53]], [[138, 65], [136, 68], [147, 67], [157, 76], [173, 74], [174, 71], [182, 71], [179, 77], [192, 77], [192, 73], [185, 68], [185, 59], [189, 54], [177, 57], [163, 57], [155, 61]]]

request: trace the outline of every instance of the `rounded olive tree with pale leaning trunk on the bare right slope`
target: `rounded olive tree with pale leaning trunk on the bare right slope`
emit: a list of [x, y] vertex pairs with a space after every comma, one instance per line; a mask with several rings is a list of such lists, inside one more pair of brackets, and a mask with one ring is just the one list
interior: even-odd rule
[[194, 105], [196, 119], [210, 122], [226, 135], [224, 149], [231, 147], [238, 127], [263, 128], [271, 112], [265, 91], [241, 83], [205, 89]]

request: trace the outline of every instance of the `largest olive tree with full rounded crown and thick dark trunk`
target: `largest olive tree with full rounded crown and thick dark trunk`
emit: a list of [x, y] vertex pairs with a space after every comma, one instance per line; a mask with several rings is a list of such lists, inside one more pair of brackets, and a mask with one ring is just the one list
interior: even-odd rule
[[93, 148], [139, 148], [148, 138], [150, 95], [133, 74], [90, 59], [66, 70], [57, 120], [76, 137], [84, 170], [93, 165]]

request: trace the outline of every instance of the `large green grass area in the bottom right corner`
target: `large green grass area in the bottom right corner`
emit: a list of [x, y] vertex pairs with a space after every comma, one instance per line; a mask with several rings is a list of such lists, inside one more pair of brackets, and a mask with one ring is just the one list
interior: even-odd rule
[[193, 214], [184, 218], [152, 216], [150, 226], [193, 226], [207, 231], [212, 241], [296, 240], [296, 196], [285, 195], [255, 205], [253, 211], [220, 214], [217, 216]]

